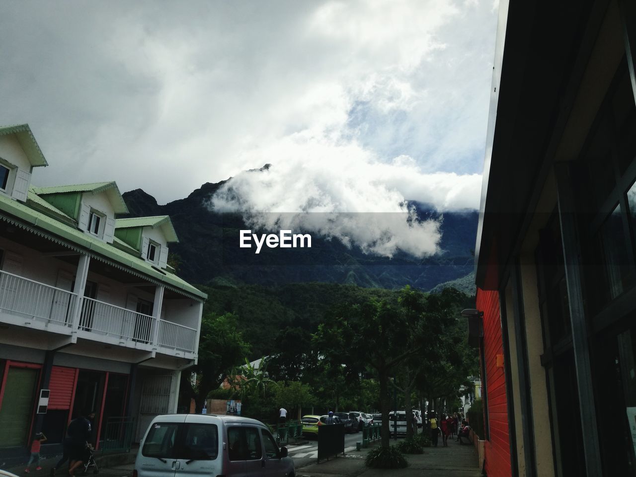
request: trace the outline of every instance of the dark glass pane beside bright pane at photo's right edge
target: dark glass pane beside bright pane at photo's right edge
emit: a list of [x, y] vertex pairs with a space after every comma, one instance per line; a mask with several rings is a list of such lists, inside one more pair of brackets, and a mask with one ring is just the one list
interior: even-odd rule
[[616, 205], [614, 211], [600, 226], [599, 235], [604, 258], [606, 289], [609, 299], [613, 299], [623, 293], [633, 279], [625, 244], [620, 204]]

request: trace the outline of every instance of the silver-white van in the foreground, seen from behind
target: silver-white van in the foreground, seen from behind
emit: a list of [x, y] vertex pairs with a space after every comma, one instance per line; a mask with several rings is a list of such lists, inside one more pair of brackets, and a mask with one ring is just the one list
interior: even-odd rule
[[139, 443], [133, 477], [294, 477], [287, 448], [255, 419], [211, 414], [157, 416]]

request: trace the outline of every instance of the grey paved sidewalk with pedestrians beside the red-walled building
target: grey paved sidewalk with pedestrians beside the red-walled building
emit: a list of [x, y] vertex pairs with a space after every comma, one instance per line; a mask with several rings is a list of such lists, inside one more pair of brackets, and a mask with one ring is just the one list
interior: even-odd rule
[[[393, 443], [394, 441], [391, 441]], [[297, 477], [480, 477], [477, 451], [473, 445], [453, 441], [448, 447], [425, 447], [423, 454], [404, 455], [409, 466], [406, 469], [369, 469], [364, 459], [371, 447], [352, 452], [347, 457], [322, 460], [320, 464], [296, 469]]]

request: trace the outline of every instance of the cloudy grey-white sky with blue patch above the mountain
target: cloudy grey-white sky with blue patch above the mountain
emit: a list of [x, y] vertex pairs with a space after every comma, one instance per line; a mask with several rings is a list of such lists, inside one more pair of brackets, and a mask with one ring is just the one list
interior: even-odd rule
[[39, 186], [165, 204], [233, 177], [211, 207], [477, 208], [496, 20], [492, 0], [3, 2], [0, 124], [31, 126]]

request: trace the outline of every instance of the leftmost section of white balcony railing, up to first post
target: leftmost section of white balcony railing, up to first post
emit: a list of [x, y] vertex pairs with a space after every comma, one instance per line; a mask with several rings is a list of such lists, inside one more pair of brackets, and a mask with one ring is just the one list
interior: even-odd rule
[[0, 310], [69, 328], [77, 295], [0, 270]]

